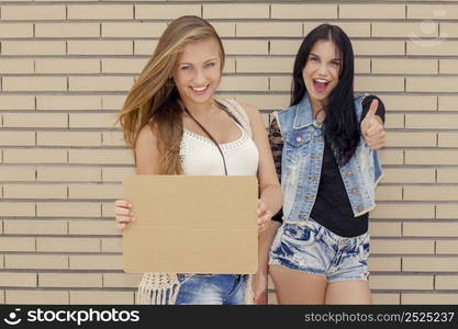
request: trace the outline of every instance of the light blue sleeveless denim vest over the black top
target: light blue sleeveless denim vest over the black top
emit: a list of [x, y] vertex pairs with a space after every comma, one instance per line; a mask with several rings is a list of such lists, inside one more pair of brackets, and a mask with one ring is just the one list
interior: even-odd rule
[[[355, 98], [358, 122], [362, 97]], [[319, 190], [324, 151], [324, 132], [313, 117], [309, 97], [277, 115], [283, 137], [281, 188], [284, 192], [283, 220], [300, 223], [309, 218]], [[355, 217], [376, 206], [375, 190], [382, 178], [377, 150], [370, 150], [364, 137], [351, 159], [339, 167]]]

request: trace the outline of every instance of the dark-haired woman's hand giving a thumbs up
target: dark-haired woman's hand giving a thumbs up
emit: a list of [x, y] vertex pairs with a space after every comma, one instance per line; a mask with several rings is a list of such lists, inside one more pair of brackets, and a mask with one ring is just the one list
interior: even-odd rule
[[379, 107], [379, 101], [375, 99], [370, 103], [370, 107], [365, 118], [361, 122], [361, 134], [370, 149], [380, 149], [386, 143], [386, 131], [383, 122], [376, 114]]

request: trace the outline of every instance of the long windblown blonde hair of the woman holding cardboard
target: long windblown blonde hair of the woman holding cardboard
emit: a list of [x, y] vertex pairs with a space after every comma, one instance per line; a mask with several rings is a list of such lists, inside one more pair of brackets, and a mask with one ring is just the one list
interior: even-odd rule
[[164, 31], [156, 49], [131, 88], [118, 115], [124, 139], [135, 149], [139, 131], [150, 125], [156, 133], [160, 154], [159, 173], [182, 173], [180, 144], [183, 105], [171, 79], [177, 60], [186, 45], [214, 38], [221, 48], [221, 70], [224, 67], [224, 48], [214, 27], [198, 16], [181, 16]]

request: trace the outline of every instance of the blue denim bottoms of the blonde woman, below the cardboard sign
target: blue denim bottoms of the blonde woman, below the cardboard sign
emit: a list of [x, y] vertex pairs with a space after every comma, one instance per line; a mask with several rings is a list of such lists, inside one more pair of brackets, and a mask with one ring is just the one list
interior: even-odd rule
[[243, 305], [245, 274], [178, 274], [176, 305]]

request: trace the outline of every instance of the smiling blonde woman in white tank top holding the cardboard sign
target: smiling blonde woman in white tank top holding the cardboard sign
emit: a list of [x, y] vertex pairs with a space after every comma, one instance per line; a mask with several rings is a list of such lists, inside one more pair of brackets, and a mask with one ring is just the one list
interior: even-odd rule
[[[137, 174], [257, 175], [259, 269], [255, 302], [267, 291], [267, 261], [282, 203], [267, 132], [259, 111], [215, 99], [224, 49], [213, 26], [197, 16], [171, 22], [132, 87], [119, 115], [135, 152]], [[127, 201], [116, 201], [116, 227], [135, 225]], [[237, 241], [234, 241], [237, 243]], [[245, 274], [146, 273], [139, 285], [149, 304], [246, 304]]]

